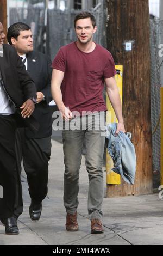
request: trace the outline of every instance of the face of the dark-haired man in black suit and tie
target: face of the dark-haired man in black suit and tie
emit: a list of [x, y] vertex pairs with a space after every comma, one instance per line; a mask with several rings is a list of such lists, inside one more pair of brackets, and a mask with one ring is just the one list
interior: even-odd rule
[[30, 29], [21, 31], [17, 39], [11, 38], [11, 42], [18, 54], [26, 54], [33, 51], [33, 39]]

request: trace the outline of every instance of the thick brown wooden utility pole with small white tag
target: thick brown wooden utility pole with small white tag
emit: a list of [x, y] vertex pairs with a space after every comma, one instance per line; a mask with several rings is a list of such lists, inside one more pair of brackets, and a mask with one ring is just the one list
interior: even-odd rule
[[123, 117], [132, 133], [137, 167], [134, 185], [108, 185], [107, 196], [152, 193], [152, 136], [148, 0], [107, 0], [108, 50], [123, 65]]

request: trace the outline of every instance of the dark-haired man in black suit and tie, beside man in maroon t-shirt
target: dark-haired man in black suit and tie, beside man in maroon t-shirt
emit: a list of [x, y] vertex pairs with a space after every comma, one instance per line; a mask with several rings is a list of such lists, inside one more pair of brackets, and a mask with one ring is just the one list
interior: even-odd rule
[[40, 129], [36, 134], [28, 128], [19, 129], [17, 132], [16, 156], [19, 175], [14, 215], [18, 218], [23, 211], [20, 179], [21, 160], [23, 159], [31, 198], [29, 215], [33, 221], [38, 221], [41, 215], [42, 200], [48, 191], [48, 161], [51, 156], [52, 114], [48, 105], [52, 100], [51, 60], [47, 55], [33, 51], [32, 31], [25, 23], [17, 22], [11, 25], [7, 38], [9, 44], [15, 47], [26, 70], [35, 82], [37, 104], [33, 115], [40, 123]]

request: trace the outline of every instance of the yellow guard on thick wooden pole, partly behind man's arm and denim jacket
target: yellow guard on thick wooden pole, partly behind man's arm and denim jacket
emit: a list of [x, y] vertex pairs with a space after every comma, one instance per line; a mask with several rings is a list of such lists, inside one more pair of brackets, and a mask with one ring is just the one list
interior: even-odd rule
[[[115, 66], [117, 74], [115, 76], [116, 78], [116, 82], [117, 82], [117, 86], [120, 92], [120, 97], [121, 97], [121, 101], [122, 101], [122, 74], [123, 74], [123, 66], [121, 65], [116, 65]], [[106, 123], [115, 123], [117, 122], [117, 118], [116, 115], [114, 113], [114, 109], [111, 106], [111, 103], [109, 101], [108, 95], [106, 96], [106, 105], [108, 108], [108, 112], [106, 115]], [[110, 157], [110, 155], [108, 154], [108, 152], [106, 151], [106, 184], [117, 184], [120, 185], [121, 184], [121, 177], [119, 174], [113, 172], [111, 169], [113, 168], [113, 162], [112, 159]]]

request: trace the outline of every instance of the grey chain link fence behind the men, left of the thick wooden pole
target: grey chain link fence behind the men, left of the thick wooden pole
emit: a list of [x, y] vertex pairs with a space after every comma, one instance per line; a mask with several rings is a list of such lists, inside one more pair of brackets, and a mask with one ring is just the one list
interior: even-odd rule
[[[59, 48], [76, 40], [73, 20], [81, 10], [46, 9], [42, 3], [40, 7], [28, 4], [28, 6], [10, 8], [10, 25], [15, 22], [27, 23], [33, 32], [34, 50], [47, 53], [54, 58]], [[101, 1], [91, 13], [97, 21], [97, 32], [93, 40], [106, 47], [105, 23], [106, 8], [105, 1]]]

